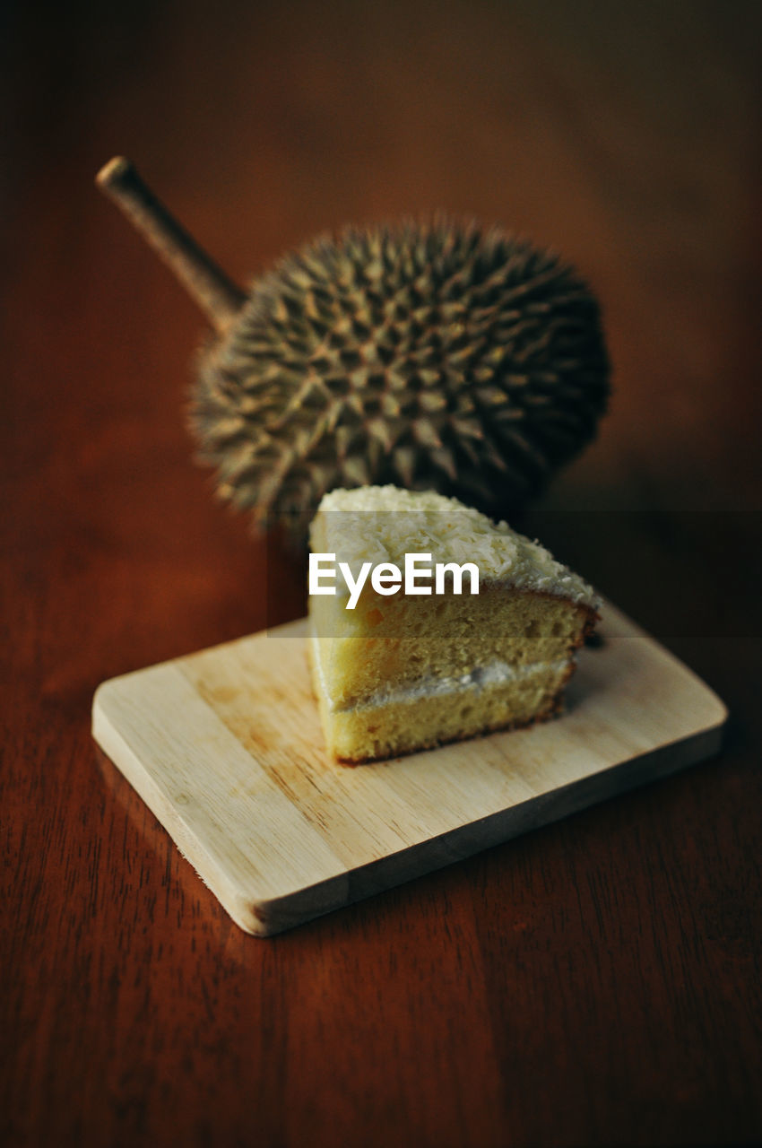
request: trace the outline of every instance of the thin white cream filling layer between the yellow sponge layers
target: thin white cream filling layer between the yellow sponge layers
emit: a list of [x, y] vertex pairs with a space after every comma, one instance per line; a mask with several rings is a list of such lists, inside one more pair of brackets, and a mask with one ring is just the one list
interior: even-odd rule
[[487, 666], [476, 666], [468, 674], [436, 677], [434, 674], [421, 677], [406, 685], [388, 685], [350, 705], [337, 706], [328, 692], [320, 658], [320, 639], [313, 634], [312, 661], [318, 672], [318, 678], [326, 704], [331, 713], [345, 713], [349, 709], [378, 709], [381, 706], [410, 704], [421, 698], [445, 697], [448, 693], [465, 693], [483, 690], [511, 682], [523, 682], [537, 674], [562, 674], [569, 665], [568, 658], [557, 658], [554, 661], [530, 661], [523, 666], [511, 666], [507, 661], [491, 661]]

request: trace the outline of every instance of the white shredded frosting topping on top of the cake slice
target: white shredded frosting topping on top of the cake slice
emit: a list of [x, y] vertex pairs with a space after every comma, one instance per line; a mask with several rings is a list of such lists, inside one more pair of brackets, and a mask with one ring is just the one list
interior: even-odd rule
[[[403, 567], [405, 553], [430, 553], [433, 564], [476, 563], [480, 583], [599, 605], [592, 587], [538, 542], [433, 490], [391, 486], [332, 490], [319, 512], [325, 527], [321, 549], [349, 563], [355, 574], [364, 561]], [[336, 587], [339, 595], [349, 592], [341, 580]]]

